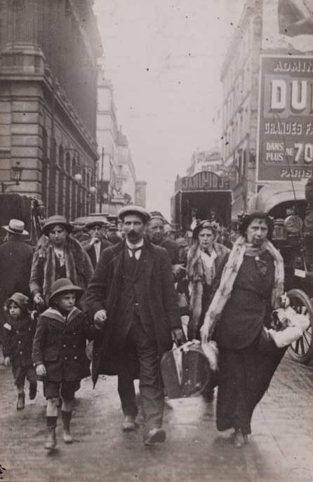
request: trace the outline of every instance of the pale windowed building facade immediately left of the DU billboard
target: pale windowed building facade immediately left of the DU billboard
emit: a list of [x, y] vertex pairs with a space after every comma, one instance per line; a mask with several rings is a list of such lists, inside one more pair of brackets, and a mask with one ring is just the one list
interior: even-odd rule
[[261, 20], [259, 2], [247, 1], [220, 76], [222, 158], [231, 173], [238, 212], [246, 208], [248, 191], [255, 190]]

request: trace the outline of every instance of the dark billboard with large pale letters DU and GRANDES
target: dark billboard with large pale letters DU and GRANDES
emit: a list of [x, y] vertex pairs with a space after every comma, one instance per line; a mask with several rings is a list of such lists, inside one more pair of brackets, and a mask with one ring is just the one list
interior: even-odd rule
[[313, 57], [261, 55], [257, 181], [313, 175]]

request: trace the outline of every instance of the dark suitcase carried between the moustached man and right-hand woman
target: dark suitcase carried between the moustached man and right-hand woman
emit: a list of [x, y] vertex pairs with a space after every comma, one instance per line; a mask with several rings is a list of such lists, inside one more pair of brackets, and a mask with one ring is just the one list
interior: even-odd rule
[[164, 353], [161, 359], [161, 375], [169, 399], [197, 397], [211, 383], [208, 359], [195, 342]]

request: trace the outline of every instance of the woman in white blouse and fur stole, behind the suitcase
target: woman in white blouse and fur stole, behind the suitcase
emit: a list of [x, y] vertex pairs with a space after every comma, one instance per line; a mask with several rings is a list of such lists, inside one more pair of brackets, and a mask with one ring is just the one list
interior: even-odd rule
[[201, 221], [194, 228], [192, 246], [187, 254], [191, 313], [187, 328], [189, 340], [200, 340], [200, 328], [212, 295], [215, 274], [229, 253], [229, 249], [216, 242], [218, 224]]

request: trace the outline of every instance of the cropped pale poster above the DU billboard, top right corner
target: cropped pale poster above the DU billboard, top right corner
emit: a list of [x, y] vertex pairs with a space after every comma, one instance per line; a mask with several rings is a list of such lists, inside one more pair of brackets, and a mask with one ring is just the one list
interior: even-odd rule
[[262, 49], [309, 52], [313, 46], [313, 0], [263, 0]]

